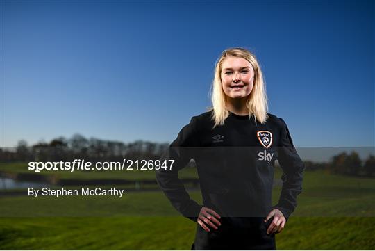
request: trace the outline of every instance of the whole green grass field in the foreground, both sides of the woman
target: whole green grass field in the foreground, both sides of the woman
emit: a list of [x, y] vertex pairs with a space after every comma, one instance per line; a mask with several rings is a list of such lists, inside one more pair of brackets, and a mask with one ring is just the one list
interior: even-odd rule
[[[277, 248], [374, 250], [374, 181], [305, 172], [299, 206], [276, 235]], [[276, 186], [274, 202], [279, 193]], [[201, 201], [199, 191], [190, 195]], [[161, 192], [129, 192], [122, 200], [0, 197], [0, 215], [2, 250], [188, 250], [196, 228]]]

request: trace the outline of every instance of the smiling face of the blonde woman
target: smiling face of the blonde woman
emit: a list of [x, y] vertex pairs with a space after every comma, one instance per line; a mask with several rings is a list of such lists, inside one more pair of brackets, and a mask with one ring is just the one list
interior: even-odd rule
[[228, 57], [222, 63], [222, 88], [233, 99], [247, 97], [253, 90], [254, 71], [248, 60]]

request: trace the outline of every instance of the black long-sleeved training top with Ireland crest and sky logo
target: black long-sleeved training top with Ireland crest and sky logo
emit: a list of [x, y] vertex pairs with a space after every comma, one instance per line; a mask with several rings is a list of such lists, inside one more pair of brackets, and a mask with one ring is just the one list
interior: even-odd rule
[[[171, 170], [160, 168], [160, 188], [183, 216], [196, 221], [202, 205], [190, 199], [178, 170], [194, 159], [197, 163], [203, 205], [220, 216], [265, 217], [272, 208], [285, 218], [297, 206], [301, 193], [303, 162], [281, 118], [268, 113], [267, 122], [255, 123], [253, 115], [229, 113], [213, 129], [213, 111], [192, 117], [160, 159], [174, 160]], [[278, 204], [272, 207], [274, 163], [283, 169]]]

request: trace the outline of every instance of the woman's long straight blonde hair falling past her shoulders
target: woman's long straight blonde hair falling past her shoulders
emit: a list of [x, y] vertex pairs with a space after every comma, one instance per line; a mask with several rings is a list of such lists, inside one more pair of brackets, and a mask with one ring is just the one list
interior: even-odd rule
[[262, 70], [260, 70], [260, 65], [256, 60], [256, 56], [254, 56], [247, 49], [235, 47], [224, 50], [215, 64], [215, 77], [211, 86], [211, 99], [213, 102], [213, 107], [209, 108], [209, 111], [213, 110], [212, 120], [215, 122], [214, 128], [217, 125], [224, 124], [224, 120], [229, 115], [229, 111], [226, 109], [226, 94], [222, 88], [221, 78], [222, 63], [228, 57], [244, 58], [249, 61], [253, 67], [253, 90], [251, 90], [251, 93], [247, 99], [246, 106], [247, 110], [249, 111], [249, 118], [251, 118], [252, 114], [254, 115], [255, 123], [258, 120], [261, 124], [263, 124], [268, 118], [268, 105]]

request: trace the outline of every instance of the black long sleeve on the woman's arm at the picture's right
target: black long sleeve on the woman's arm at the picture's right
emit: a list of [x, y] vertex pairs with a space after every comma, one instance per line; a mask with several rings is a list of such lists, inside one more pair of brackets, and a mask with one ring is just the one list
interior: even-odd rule
[[290, 214], [297, 207], [297, 195], [302, 191], [303, 170], [305, 166], [293, 145], [288, 126], [285, 121], [281, 129], [280, 145], [278, 147], [278, 162], [283, 169], [283, 187], [278, 204], [274, 208], [279, 209], [288, 220]]

